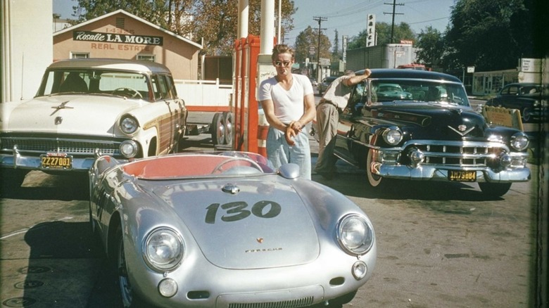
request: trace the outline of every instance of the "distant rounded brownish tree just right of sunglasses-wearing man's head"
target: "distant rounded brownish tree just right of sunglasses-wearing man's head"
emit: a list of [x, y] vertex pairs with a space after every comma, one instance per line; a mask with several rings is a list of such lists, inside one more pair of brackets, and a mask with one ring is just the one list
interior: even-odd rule
[[[320, 31], [320, 36], [317, 29], [312, 27], [307, 27], [305, 30], [300, 32], [296, 37], [296, 43], [294, 44], [294, 49], [296, 50], [296, 62], [303, 63], [305, 58], [309, 58], [312, 62], [317, 61], [318, 53], [318, 41], [320, 38], [320, 58], [331, 58], [331, 53], [329, 51], [332, 48], [328, 37]], [[311, 55], [309, 53], [310, 47], [314, 47], [315, 54]]]

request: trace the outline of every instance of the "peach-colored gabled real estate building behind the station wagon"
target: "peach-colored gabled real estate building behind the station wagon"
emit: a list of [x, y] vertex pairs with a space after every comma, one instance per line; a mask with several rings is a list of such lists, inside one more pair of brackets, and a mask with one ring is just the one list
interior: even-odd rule
[[53, 61], [67, 58], [152, 60], [174, 79], [198, 79], [202, 44], [124, 10], [53, 33]]

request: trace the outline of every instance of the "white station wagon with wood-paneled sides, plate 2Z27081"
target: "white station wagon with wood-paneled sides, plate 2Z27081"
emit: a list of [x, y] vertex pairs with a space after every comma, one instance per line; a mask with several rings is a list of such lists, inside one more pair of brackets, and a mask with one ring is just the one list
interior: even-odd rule
[[151, 61], [56, 61], [33, 99], [2, 105], [0, 167], [13, 186], [33, 169], [84, 174], [99, 155], [175, 152], [187, 122], [170, 70]]

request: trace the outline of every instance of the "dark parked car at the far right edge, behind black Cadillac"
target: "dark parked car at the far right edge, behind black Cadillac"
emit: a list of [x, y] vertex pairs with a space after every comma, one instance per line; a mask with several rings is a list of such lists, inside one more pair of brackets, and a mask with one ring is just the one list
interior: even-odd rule
[[513, 83], [503, 86], [495, 98], [486, 101], [487, 106], [517, 109], [522, 122], [540, 120], [547, 113], [547, 86], [542, 84]]

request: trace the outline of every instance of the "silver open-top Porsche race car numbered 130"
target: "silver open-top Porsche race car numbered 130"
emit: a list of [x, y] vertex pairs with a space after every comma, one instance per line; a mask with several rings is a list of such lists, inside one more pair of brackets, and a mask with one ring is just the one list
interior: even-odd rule
[[341, 307], [372, 275], [372, 222], [261, 155], [179, 153], [89, 171], [90, 222], [125, 307]]

